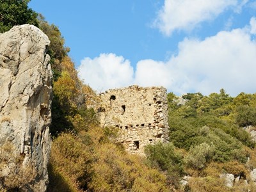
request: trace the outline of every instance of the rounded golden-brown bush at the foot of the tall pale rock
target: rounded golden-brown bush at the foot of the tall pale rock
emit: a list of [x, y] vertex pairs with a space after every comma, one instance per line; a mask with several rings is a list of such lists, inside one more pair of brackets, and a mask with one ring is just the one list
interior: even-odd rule
[[50, 172], [52, 180], [49, 188], [56, 188], [53, 180], [58, 180], [58, 177], [60, 179], [58, 182], [65, 180], [70, 188], [85, 188], [92, 174], [90, 165], [92, 158], [90, 145], [85, 145], [81, 138], [72, 133], [60, 134], [52, 143], [52, 172]]

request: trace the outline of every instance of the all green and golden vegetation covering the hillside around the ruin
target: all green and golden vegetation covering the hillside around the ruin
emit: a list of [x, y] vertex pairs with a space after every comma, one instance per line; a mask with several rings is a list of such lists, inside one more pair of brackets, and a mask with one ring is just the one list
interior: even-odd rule
[[[255, 129], [256, 94], [230, 97], [223, 89], [209, 96], [168, 93], [170, 143], [146, 147], [146, 157], [127, 154], [115, 142], [118, 130], [100, 128], [95, 111], [86, 107], [99, 100], [77, 77], [60, 30], [29, 10], [27, 3], [1, 1], [0, 28], [4, 32], [15, 24], [32, 23], [51, 40], [47, 53], [54, 97], [48, 191], [256, 191], [249, 174], [256, 168], [255, 141], [244, 128]], [[9, 12], [16, 6], [30, 16], [20, 21], [20, 12]], [[3, 20], [9, 17], [14, 21]], [[220, 177], [224, 173], [240, 177], [233, 188]], [[190, 179], [182, 186], [185, 175]]]

